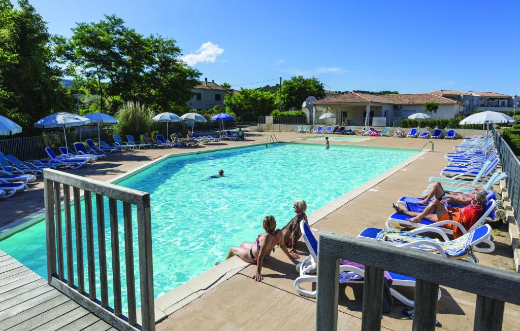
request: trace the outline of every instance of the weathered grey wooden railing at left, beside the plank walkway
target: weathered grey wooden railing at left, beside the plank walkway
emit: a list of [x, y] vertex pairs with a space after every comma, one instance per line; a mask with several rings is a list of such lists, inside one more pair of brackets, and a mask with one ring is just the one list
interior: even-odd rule
[[[71, 299], [99, 318], [121, 330], [154, 330], [153, 267], [151, 247], [150, 196], [148, 193], [81, 176], [45, 169], [45, 225], [47, 236], [47, 279]], [[72, 233], [71, 188], [74, 206], [74, 232]], [[65, 223], [65, 252], [63, 256], [63, 226], [61, 189]], [[84, 190], [84, 218], [81, 208], [81, 190]], [[99, 265], [95, 263], [92, 195], [96, 195], [96, 222]], [[105, 197], [108, 197], [110, 247], [112, 255], [113, 307], [109, 307], [107, 280], [107, 236], [105, 233]], [[121, 299], [121, 267], [119, 254], [118, 201], [123, 203], [124, 250], [126, 272], [126, 302], [128, 315], [123, 315]], [[139, 252], [139, 278], [141, 299], [141, 325], [137, 324], [134, 247], [132, 231], [132, 205], [137, 208], [137, 236]], [[85, 222], [88, 288], [85, 289], [83, 220]], [[74, 268], [73, 235], [76, 249]], [[67, 264], [67, 274], [64, 264]], [[96, 268], [99, 269], [101, 300], [96, 295]], [[77, 282], [75, 282], [77, 280]]]

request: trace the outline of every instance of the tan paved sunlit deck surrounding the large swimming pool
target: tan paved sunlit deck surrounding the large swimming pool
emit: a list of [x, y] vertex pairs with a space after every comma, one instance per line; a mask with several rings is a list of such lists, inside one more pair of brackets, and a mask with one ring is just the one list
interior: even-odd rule
[[[144, 162], [152, 161], [163, 155], [185, 153], [197, 149], [207, 150], [265, 142], [267, 134], [272, 133], [277, 136], [279, 141], [316, 143], [316, 141], [298, 139], [305, 134], [255, 132], [248, 134], [246, 136], [248, 140], [245, 142], [220, 142], [197, 148], [155, 148], [109, 155], [106, 160], [90, 164], [85, 169], [71, 170], [70, 172], [108, 181], [142, 166]], [[331, 148], [334, 148], [335, 144], [339, 144], [418, 149], [425, 142], [422, 139], [378, 137], [363, 142], [331, 142]], [[315, 217], [317, 222], [311, 227], [348, 236], [357, 236], [366, 227], [383, 227], [384, 221], [392, 213], [392, 202], [397, 201], [401, 196], [419, 195], [426, 186], [427, 178], [438, 175], [439, 171], [445, 166], [444, 154], [447, 151], [452, 151], [452, 147], [460, 143], [460, 140], [434, 140], [434, 142], [434, 153], [426, 153], [420, 156], [405, 168], [397, 170], [379, 183], [374, 183], [370, 190], [358, 192], [359, 195], [353, 199], [341, 203], [331, 203], [327, 208], [320, 210], [319, 217]], [[347, 156], [345, 161], [355, 162], [356, 160], [349, 160]], [[373, 161], [384, 162], [384, 160]], [[315, 183], [309, 183], [309, 185], [311, 184], [314, 185]], [[321, 185], [324, 184], [321, 183]], [[0, 205], [2, 205], [0, 227], [42, 209], [43, 184], [41, 178], [36, 184], [30, 185], [26, 192], [4, 200], [0, 202]], [[283, 221], [280, 223], [283, 223]], [[279, 224], [279, 227], [281, 226], [283, 224]], [[501, 229], [500, 236], [495, 236], [494, 239], [496, 250], [493, 253], [477, 253], [480, 264], [514, 271], [510, 239], [505, 227]], [[302, 253], [301, 259], [303, 259], [307, 254], [303, 242], [299, 243], [298, 251]], [[277, 250], [273, 258], [264, 264], [264, 281], [261, 283], [256, 283], [251, 278], [254, 273], [253, 266], [243, 267], [244, 264], [238, 261], [232, 262], [232, 264], [236, 265], [234, 268], [238, 272], [233, 272], [229, 277], [219, 279], [217, 282], [209, 281], [205, 278], [212, 277], [210, 272], [209, 275], [199, 278], [199, 283], [209, 284], [208, 287], [211, 286], [211, 289], [201, 292], [187, 292], [185, 300], [180, 300], [177, 304], [168, 307], [167, 318], [160, 322], [157, 328], [160, 330], [314, 329], [315, 300], [302, 297], [296, 293], [294, 279], [297, 277], [297, 272], [294, 263], [285, 257], [281, 250]], [[0, 277], [0, 289], [5, 285], [3, 282], [5, 282], [5, 279], [2, 280]], [[362, 293], [360, 288], [360, 286], [340, 288], [340, 291], [343, 290], [344, 293], [340, 292], [340, 314], [338, 316], [340, 329], [360, 328], [361, 312], [359, 308], [361, 301], [359, 296]], [[438, 304], [437, 320], [443, 327], [439, 329], [472, 329], [476, 296], [456, 289], [441, 288], [443, 297]], [[411, 291], [402, 292], [410, 297], [413, 296]], [[156, 305], [160, 299], [156, 301]], [[1, 305], [2, 302], [0, 302]], [[399, 301], [394, 300], [393, 311], [383, 316], [383, 329], [411, 329], [411, 321], [401, 314], [402, 307], [404, 306]], [[164, 311], [162, 307], [159, 310]], [[519, 318], [520, 307], [506, 304], [503, 329], [516, 329], [516, 322]]]

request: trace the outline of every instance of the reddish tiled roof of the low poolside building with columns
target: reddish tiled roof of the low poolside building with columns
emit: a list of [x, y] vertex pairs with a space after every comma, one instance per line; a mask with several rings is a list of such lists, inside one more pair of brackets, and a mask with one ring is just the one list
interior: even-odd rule
[[460, 102], [444, 98], [443, 96], [432, 93], [414, 93], [414, 94], [365, 94], [348, 92], [331, 96], [321, 100], [311, 102], [312, 104], [327, 103], [359, 103], [359, 102], [375, 102], [399, 105], [420, 105], [425, 102], [436, 102], [439, 104], [462, 104]]

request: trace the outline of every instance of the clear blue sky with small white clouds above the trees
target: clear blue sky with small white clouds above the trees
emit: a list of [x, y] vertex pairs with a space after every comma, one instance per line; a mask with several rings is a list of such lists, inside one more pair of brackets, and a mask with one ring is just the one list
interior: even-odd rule
[[[235, 88], [304, 75], [332, 90], [520, 94], [519, 1], [31, 3], [53, 34], [106, 13], [174, 38], [202, 79]], [[267, 84], [276, 80], [245, 87]]]

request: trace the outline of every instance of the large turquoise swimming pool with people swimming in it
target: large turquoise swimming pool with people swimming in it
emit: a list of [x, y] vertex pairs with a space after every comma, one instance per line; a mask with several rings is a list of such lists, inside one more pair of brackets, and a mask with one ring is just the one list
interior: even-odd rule
[[[229, 246], [253, 241], [263, 232], [265, 215], [274, 215], [281, 228], [294, 214], [295, 199], [304, 199], [307, 213], [311, 213], [418, 153], [417, 149], [333, 145], [325, 150], [322, 144], [280, 143], [268, 148], [252, 146], [165, 158], [124, 178], [118, 185], [150, 193], [157, 298], [209, 270], [215, 261], [222, 261]], [[227, 176], [209, 178], [219, 169], [224, 169]], [[105, 206], [108, 209], [108, 203]], [[120, 209], [118, 215], [122, 214]], [[97, 236], [95, 204], [93, 215]], [[136, 231], [135, 210], [133, 219]], [[85, 236], [86, 231], [82, 232]], [[106, 233], [109, 236], [108, 219]], [[124, 275], [122, 237], [119, 238]], [[137, 236], [134, 237], [137, 266]], [[97, 258], [96, 237], [94, 242]], [[0, 241], [0, 250], [46, 278], [45, 222]], [[110, 281], [109, 245], [107, 260]], [[136, 284], [137, 278], [138, 273]], [[125, 287], [126, 280], [121, 283]], [[109, 297], [112, 300], [111, 287]], [[138, 292], [136, 297], [139, 307]]]

